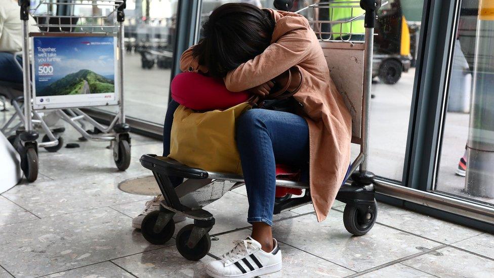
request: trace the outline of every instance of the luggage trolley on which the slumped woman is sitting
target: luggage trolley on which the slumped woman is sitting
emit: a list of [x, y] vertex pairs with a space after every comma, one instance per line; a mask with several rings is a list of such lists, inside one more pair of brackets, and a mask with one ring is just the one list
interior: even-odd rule
[[[275, 7], [289, 10], [291, 1], [275, 1]], [[336, 197], [346, 204], [343, 222], [345, 228], [354, 235], [367, 233], [376, 222], [377, 203], [374, 191], [374, 174], [367, 170], [368, 138], [369, 138], [369, 100], [372, 78], [373, 34], [376, 11], [381, 7], [380, 0], [360, 0], [347, 2], [324, 2], [311, 5], [308, 9], [339, 9], [350, 8], [365, 11], [365, 41], [352, 42], [343, 38], [321, 39], [320, 45], [331, 71], [331, 76], [339, 91], [343, 94], [352, 114], [352, 142], [360, 145], [360, 153], [351, 164], [351, 185], [344, 184]], [[301, 12], [299, 11], [299, 12]], [[362, 10], [360, 10], [361, 12]], [[307, 12], [307, 11], [306, 11]], [[362, 15], [363, 16], [363, 15]], [[339, 24], [356, 20], [354, 18], [328, 21], [313, 20], [313, 24]], [[317, 29], [317, 28], [316, 28]], [[319, 28], [321, 30], [321, 28]], [[332, 32], [323, 32], [334, 34]], [[320, 35], [320, 34], [319, 34]], [[345, 33], [344, 35], [352, 35]], [[351, 78], [346, 78], [351, 76]], [[153, 172], [164, 201], [160, 210], [149, 213], [143, 220], [141, 231], [147, 241], [153, 244], [164, 244], [174, 234], [175, 214], [194, 219], [194, 224], [183, 227], [176, 235], [176, 246], [180, 254], [189, 260], [199, 260], [211, 248], [209, 231], [215, 224], [213, 215], [202, 207], [218, 200], [227, 191], [244, 184], [243, 177], [235, 174], [217, 173], [202, 169], [190, 168], [168, 157], [155, 154], [144, 154], [140, 158], [141, 165]], [[359, 167], [359, 170], [357, 170]], [[174, 188], [170, 176], [186, 178]], [[305, 189], [300, 197], [291, 197], [275, 202], [274, 214], [291, 210], [311, 203], [309, 185], [305, 182], [276, 180], [276, 186]]]

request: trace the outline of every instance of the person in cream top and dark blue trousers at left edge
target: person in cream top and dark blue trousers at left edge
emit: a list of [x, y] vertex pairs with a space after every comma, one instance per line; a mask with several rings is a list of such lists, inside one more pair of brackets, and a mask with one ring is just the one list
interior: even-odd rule
[[[29, 31], [38, 31], [36, 22], [29, 18]], [[14, 53], [22, 51], [22, 20], [16, 0], [0, 0], [0, 81], [22, 83], [22, 70], [15, 62]], [[22, 63], [20, 57], [17, 58]]]

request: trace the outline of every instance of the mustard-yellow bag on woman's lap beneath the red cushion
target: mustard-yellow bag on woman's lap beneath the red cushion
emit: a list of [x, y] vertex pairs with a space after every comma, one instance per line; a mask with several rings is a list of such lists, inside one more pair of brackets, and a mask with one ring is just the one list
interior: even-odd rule
[[205, 171], [241, 174], [235, 119], [251, 107], [241, 103], [226, 110], [195, 112], [180, 105], [173, 114], [168, 157]]

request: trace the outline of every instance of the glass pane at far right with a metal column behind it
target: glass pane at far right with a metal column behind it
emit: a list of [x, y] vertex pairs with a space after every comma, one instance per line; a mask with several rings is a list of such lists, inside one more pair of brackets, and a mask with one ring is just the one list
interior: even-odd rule
[[434, 190], [494, 206], [494, 16], [488, 3], [460, 4]]

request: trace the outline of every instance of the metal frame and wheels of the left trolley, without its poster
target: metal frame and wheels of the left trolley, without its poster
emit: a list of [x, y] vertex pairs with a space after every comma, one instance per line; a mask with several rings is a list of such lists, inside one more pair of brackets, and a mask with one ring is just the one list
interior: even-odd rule
[[[76, 131], [78, 131], [84, 138], [95, 141], [110, 141], [111, 148], [113, 149], [113, 158], [115, 164], [119, 170], [126, 170], [130, 164], [130, 143], [129, 136], [130, 127], [125, 123], [125, 106], [123, 101], [123, 54], [125, 53], [125, 47], [123, 44], [123, 22], [125, 21], [124, 9], [126, 7], [126, 0], [74, 0], [71, 2], [42, 0], [34, 9], [30, 9], [29, 0], [18, 0], [21, 7], [20, 18], [23, 22], [23, 46], [22, 46], [22, 66], [23, 70], [23, 87], [24, 97], [16, 98], [12, 100], [12, 104], [16, 110], [16, 113], [2, 128], [2, 132], [9, 136], [16, 133], [16, 139], [14, 145], [21, 154], [21, 168], [28, 181], [34, 181], [37, 177], [38, 147], [45, 147], [47, 150], [56, 151], [61, 148], [61, 143], [56, 134], [63, 132], [63, 129], [53, 130], [45, 123], [42, 116], [33, 109], [32, 105], [32, 90], [31, 90], [31, 74], [30, 64], [32, 62], [30, 57], [29, 41], [31, 36], [115, 36], [117, 37], [117, 93], [118, 94], [118, 112], [111, 121], [109, 126], [103, 126], [96, 122], [91, 116], [81, 111], [79, 108], [73, 106], [68, 108], [57, 109], [41, 109], [43, 111], [50, 111], [56, 113], [63, 121], [71, 125]], [[47, 7], [47, 11], [50, 11], [51, 5], [75, 7], [75, 6], [98, 6], [109, 10], [107, 15], [95, 15], [92, 13], [89, 16], [55, 16], [47, 14], [35, 15], [45, 17], [45, 21], [37, 23], [40, 31], [35, 33], [29, 32], [29, 15], [33, 15], [40, 9], [40, 7]], [[19, 55], [19, 54], [17, 54]], [[21, 103], [22, 102], [22, 103]], [[23, 110], [23, 111], [22, 111]], [[11, 127], [16, 117], [19, 117], [20, 123]], [[89, 123], [97, 129], [98, 132], [88, 133], [85, 130], [85, 123]], [[34, 124], [34, 125], [33, 125]], [[42, 129], [49, 141], [37, 143], [38, 133], [35, 130], [35, 125]], [[55, 134], [54, 134], [55, 133]]]

